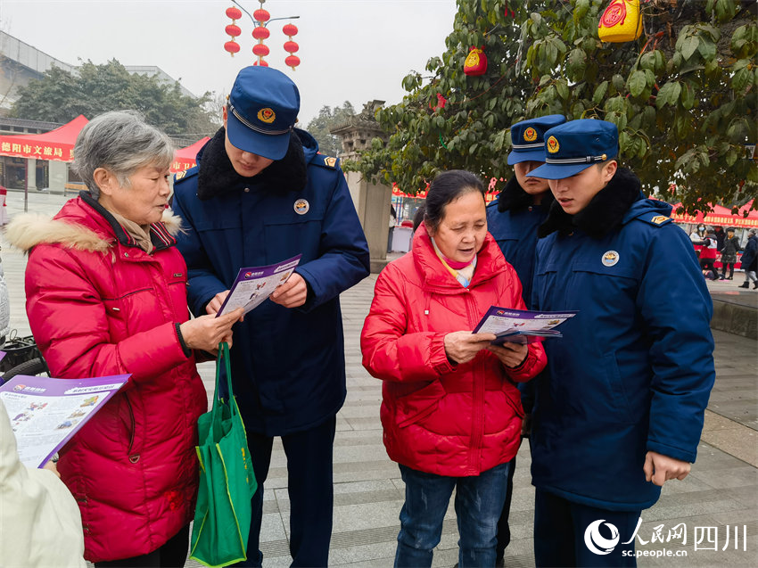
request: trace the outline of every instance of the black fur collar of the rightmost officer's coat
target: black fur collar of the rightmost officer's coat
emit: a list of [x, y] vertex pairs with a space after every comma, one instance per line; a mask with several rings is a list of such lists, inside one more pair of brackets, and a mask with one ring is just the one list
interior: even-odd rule
[[559, 202], [554, 202], [537, 235], [541, 239], [558, 231], [559, 235], [565, 236], [579, 227], [592, 238], [602, 238], [621, 224], [631, 204], [639, 200], [640, 187], [639, 177], [629, 169], [619, 168], [608, 185], [576, 215], [569, 215]]

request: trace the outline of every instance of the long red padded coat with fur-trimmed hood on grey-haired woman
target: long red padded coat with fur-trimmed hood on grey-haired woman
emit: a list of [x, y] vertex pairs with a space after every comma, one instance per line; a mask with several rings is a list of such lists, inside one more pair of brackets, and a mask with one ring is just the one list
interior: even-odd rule
[[8, 228], [31, 250], [27, 314], [51, 375], [132, 375], [58, 462], [93, 562], [150, 553], [194, 516], [196, 423], [208, 403], [175, 327], [188, 319], [187, 275], [167, 217], [152, 225], [152, 254], [91, 198]]

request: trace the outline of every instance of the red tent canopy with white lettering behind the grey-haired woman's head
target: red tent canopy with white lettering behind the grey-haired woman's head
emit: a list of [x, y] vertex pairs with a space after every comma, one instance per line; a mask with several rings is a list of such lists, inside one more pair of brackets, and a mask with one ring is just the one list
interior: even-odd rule
[[73, 161], [74, 144], [89, 122], [83, 114], [44, 134], [0, 136], [0, 156], [36, 160]]

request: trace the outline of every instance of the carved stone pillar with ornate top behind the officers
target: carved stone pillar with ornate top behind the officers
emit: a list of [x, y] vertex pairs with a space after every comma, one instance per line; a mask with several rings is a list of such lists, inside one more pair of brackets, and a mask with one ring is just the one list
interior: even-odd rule
[[[359, 151], [370, 148], [374, 138], [386, 140], [387, 135], [374, 119], [374, 112], [383, 103], [383, 101], [366, 103], [360, 114], [330, 129], [332, 134], [342, 138], [342, 154], [340, 154], [342, 160], [357, 160]], [[374, 184], [355, 171], [347, 172], [345, 178], [353, 204], [358, 211], [360, 225], [363, 226], [363, 232], [368, 241], [371, 272], [380, 272], [387, 265], [392, 188], [389, 185]]]

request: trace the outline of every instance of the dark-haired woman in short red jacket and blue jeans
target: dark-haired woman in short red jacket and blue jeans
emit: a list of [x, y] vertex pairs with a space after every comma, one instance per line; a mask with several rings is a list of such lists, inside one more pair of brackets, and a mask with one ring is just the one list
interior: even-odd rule
[[458, 564], [493, 566], [507, 467], [521, 441], [515, 382], [545, 367], [539, 343], [491, 345], [471, 333], [492, 305], [525, 309], [521, 283], [487, 233], [473, 174], [435, 177], [413, 249], [385, 268], [361, 333], [363, 365], [382, 379], [384, 446], [406, 501], [396, 566], [430, 566], [456, 490]]

